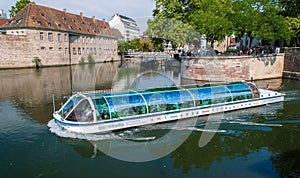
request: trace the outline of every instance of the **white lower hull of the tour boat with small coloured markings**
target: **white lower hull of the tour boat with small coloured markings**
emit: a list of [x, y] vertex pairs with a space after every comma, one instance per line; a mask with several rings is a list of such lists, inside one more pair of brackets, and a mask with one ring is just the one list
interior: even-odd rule
[[204, 116], [215, 113], [235, 111], [251, 107], [262, 106], [266, 104], [284, 101], [284, 95], [274, 92], [262, 90], [262, 98], [243, 100], [237, 102], [215, 104], [209, 106], [192, 107], [175, 111], [166, 111], [153, 114], [138, 115], [132, 117], [124, 117], [110, 120], [101, 120], [98, 122], [71, 122], [55, 117], [55, 122], [61, 127], [77, 133], [105, 133], [115, 130], [121, 130], [142, 125], [156, 124], [162, 122], [170, 122], [180, 119], [186, 119], [196, 116]]

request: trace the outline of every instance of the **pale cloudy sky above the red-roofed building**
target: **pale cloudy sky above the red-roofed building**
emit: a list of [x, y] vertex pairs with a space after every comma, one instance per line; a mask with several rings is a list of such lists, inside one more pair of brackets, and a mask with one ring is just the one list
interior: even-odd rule
[[[125, 15], [134, 19], [141, 31], [147, 27], [146, 22], [152, 17], [155, 0], [31, 0], [36, 4], [58, 10], [67, 9], [68, 12], [86, 17], [95, 16], [97, 19], [109, 21], [115, 14]], [[9, 9], [17, 0], [0, 0], [0, 9], [9, 17]]]

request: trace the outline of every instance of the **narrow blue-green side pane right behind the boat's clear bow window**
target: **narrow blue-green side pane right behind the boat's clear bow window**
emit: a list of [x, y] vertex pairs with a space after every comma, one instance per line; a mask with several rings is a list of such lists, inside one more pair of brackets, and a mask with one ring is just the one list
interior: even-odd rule
[[109, 108], [103, 97], [93, 99], [97, 120], [110, 119]]

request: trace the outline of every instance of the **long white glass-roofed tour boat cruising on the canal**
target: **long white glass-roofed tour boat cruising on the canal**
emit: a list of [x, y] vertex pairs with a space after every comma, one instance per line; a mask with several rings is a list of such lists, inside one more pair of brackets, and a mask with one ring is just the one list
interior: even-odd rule
[[284, 94], [258, 89], [250, 82], [195, 84], [107, 93], [77, 93], [53, 116], [58, 125], [69, 131], [103, 133], [283, 100]]

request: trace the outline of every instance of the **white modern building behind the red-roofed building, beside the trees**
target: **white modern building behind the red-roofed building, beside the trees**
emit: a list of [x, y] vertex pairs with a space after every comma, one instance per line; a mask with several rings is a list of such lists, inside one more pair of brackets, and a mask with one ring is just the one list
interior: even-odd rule
[[140, 28], [137, 23], [126, 16], [115, 14], [109, 21], [112, 28], [118, 29], [125, 40], [137, 39], [140, 36]]

